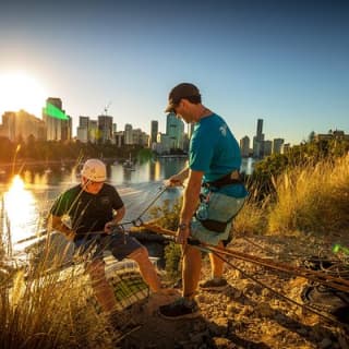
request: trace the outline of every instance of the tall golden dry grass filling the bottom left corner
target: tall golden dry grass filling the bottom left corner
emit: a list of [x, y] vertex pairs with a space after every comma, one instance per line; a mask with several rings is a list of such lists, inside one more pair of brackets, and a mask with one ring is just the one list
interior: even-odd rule
[[[55, 268], [55, 263], [50, 261]], [[86, 300], [91, 289], [74, 268], [48, 273], [45, 260], [1, 282], [0, 347], [108, 348], [110, 338], [96, 308]]]

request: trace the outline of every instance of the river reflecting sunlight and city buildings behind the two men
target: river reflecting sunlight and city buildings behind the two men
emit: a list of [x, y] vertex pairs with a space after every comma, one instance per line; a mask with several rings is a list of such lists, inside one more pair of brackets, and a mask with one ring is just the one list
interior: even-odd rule
[[[185, 165], [184, 158], [160, 158], [137, 164], [134, 170], [125, 170], [120, 164], [108, 165], [108, 182], [116, 185], [125, 204], [124, 221], [137, 218], [164, 188], [164, 180]], [[253, 171], [251, 159], [243, 159], [242, 171]], [[12, 242], [12, 250], [19, 250], [22, 246], [20, 241], [38, 234], [45, 228], [45, 218], [59, 193], [79, 182], [76, 167], [59, 166], [45, 170], [26, 170], [12, 178], [10, 183], [0, 183], [0, 237], [8, 237]], [[160, 205], [165, 200], [173, 201], [179, 195], [181, 189], [166, 191], [155, 205]]]

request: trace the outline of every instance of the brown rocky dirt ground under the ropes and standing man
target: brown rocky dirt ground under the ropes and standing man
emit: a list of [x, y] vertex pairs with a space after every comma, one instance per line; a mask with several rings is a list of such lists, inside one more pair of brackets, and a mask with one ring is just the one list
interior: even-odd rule
[[[342, 234], [243, 236], [236, 238], [230, 248], [300, 265], [304, 257], [311, 255], [336, 257], [332, 252], [333, 243], [349, 245], [348, 238]], [[200, 317], [163, 320], [156, 309], [174, 299], [176, 292], [161, 298], [151, 297], [147, 303], [131, 310], [132, 316], [142, 322], [143, 326], [116, 346], [144, 349], [349, 348], [348, 329], [287, 302], [249, 276], [300, 303], [305, 279], [266, 270], [246, 262], [229, 261], [241, 270], [226, 267], [225, 275], [230, 286], [225, 291], [198, 291], [196, 299], [202, 312]], [[202, 277], [208, 275], [209, 263], [204, 258]]]

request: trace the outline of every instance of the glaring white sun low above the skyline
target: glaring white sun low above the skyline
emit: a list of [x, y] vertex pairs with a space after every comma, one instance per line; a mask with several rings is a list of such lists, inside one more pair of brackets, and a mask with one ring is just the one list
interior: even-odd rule
[[0, 116], [24, 109], [40, 117], [46, 98], [43, 85], [26, 72], [0, 72]]

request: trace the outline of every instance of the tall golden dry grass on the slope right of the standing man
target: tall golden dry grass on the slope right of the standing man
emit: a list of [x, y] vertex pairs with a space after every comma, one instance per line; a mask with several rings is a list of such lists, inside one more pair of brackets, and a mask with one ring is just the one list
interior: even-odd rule
[[292, 167], [273, 179], [275, 194], [261, 203], [249, 185], [248, 201], [234, 219], [238, 234], [340, 231], [349, 226], [349, 155]]

